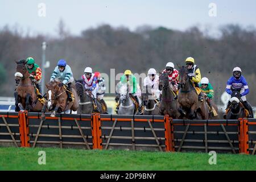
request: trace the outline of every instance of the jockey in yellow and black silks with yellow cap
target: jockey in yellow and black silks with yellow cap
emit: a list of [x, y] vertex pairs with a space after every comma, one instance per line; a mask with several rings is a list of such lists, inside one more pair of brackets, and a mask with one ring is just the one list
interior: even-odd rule
[[200, 69], [195, 65], [195, 59], [193, 57], [187, 57], [185, 64], [187, 65], [189, 80], [198, 88], [196, 89], [196, 93], [199, 96], [199, 100], [203, 101], [203, 94], [199, 88], [199, 82], [201, 81]]

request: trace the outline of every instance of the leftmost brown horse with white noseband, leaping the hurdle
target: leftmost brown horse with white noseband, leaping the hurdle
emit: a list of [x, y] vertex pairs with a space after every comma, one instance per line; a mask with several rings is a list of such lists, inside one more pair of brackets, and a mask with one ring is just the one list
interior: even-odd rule
[[17, 64], [15, 81], [18, 84], [15, 97], [15, 111], [20, 111], [19, 103], [22, 104], [24, 110], [32, 112], [40, 112], [43, 104], [38, 101], [38, 95], [35, 93], [35, 85], [30, 80], [30, 74], [27, 71], [27, 61], [15, 61]]

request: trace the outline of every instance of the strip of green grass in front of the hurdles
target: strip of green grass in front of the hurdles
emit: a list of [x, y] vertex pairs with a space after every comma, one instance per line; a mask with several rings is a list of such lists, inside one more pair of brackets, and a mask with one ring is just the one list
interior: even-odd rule
[[[39, 165], [39, 151], [46, 165]], [[0, 170], [255, 170], [256, 156], [217, 154], [217, 164], [202, 153], [0, 148]]]

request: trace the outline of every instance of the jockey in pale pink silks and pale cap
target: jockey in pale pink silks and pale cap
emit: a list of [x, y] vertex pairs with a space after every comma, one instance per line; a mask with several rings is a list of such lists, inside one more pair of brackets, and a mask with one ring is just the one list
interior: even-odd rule
[[144, 78], [143, 86], [151, 89], [152, 96], [159, 100], [159, 94], [161, 93], [158, 89], [159, 85], [159, 76], [156, 75], [156, 70], [154, 68], [148, 69], [147, 77]]

